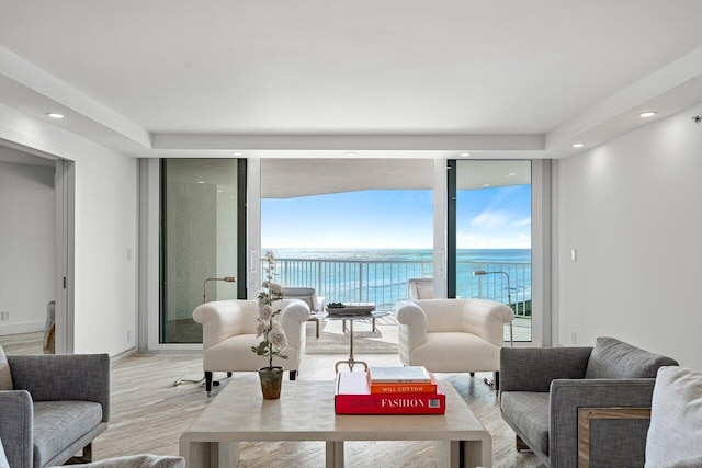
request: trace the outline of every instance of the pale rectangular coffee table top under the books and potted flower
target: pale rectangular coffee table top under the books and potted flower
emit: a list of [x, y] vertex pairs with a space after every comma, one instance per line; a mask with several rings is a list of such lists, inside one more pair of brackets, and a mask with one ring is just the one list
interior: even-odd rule
[[263, 400], [256, 378], [233, 379], [181, 438], [189, 441], [476, 441], [490, 435], [448, 381], [445, 414], [337, 415], [331, 380], [283, 380]]

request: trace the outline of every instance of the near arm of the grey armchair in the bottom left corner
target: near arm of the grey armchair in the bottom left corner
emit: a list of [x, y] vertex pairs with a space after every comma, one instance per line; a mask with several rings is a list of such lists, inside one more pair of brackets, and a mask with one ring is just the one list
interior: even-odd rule
[[26, 390], [0, 391], [0, 440], [11, 467], [29, 467], [33, 450], [34, 407]]

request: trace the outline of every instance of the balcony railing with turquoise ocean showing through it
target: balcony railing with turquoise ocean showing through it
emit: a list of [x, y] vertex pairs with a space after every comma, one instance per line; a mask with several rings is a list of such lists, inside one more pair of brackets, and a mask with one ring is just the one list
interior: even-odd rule
[[[399, 300], [409, 298], [407, 282], [432, 277], [431, 261], [358, 261], [275, 259], [276, 278], [283, 286], [314, 287], [327, 303], [375, 303], [377, 310], [392, 310]], [[474, 276], [476, 270], [506, 272]], [[518, 316], [531, 316], [531, 264], [496, 262], [458, 262], [457, 296], [508, 303]]]

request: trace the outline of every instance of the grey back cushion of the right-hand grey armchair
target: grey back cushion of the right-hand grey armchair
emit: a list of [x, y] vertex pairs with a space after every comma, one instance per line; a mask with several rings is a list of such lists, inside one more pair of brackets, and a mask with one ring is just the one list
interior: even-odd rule
[[585, 378], [655, 378], [661, 366], [677, 365], [670, 357], [602, 336], [595, 343]]

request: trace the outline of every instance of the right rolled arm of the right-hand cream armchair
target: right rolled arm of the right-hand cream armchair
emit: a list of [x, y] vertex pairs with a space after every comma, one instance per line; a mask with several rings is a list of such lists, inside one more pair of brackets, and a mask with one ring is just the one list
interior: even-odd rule
[[505, 323], [514, 320], [514, 311], [505, 304], [482, 299], [463, 301], [463, 330], [502, 346]]

